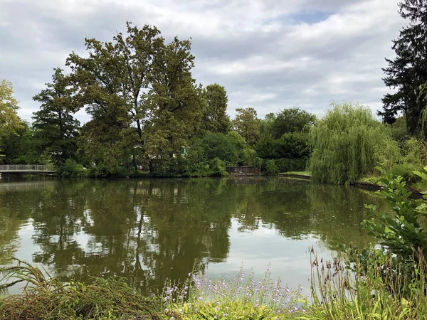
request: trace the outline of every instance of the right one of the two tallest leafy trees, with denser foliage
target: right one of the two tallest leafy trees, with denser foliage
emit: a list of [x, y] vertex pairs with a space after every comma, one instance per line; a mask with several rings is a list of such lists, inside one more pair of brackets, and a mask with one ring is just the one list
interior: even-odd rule
[[179, 156], [181, 147], [188, 146], [189, 139], [200, 129], [203, 92], [192, 78], [193, 67], [190, 41], [174, 38], [162, 45], [154, 57], [145, 126], [145, 155], [150, 171], [155, 164], [165, 166]]

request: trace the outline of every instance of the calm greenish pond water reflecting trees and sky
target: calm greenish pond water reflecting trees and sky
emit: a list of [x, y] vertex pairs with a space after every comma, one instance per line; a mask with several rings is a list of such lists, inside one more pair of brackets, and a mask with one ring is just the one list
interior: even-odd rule
[[126, 277], [142, 292], [194, 270], [308, 287], [308, 247], [371, 241], [360, 223], [373, 193], [288, 178], [0, 182], [0, 265], [19, 258], [85, 281]]

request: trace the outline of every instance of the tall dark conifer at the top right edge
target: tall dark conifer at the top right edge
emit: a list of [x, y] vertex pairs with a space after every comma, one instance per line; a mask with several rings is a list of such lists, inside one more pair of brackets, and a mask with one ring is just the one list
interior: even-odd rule
[[399, 8], [401, 17], [408, 19], [409, 25], [393, 41], [396, 58], [386, 59], [389, 66], [383, 69], [386, 74], [383, 80], [395, 92], [384, 95], [384, 107], [379, 115], [384, 117], [384, 122], [392, 124], [403, 112], [408, 134], [416, 134], [421, 110], [426, 105], [426, 97], [418, 97], [420, 86], [427, 82], [427, 0], [404, 0]]

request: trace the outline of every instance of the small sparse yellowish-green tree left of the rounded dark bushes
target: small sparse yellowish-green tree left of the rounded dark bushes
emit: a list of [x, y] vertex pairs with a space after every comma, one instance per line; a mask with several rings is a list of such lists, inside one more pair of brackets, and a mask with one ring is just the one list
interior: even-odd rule
[[254, 146], [260, 137], [260, 119], [253, 108], [237, 108], [233, 120], [233, 130], [245, 138], [249, 146]]

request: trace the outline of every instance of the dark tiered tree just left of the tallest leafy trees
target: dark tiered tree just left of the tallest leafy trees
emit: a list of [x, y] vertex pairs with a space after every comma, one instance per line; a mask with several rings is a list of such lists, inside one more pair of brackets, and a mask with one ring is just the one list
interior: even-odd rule
[[70, 80], [62, 69], [54, 70], [52, 83], [46, 83], [47, 88], [33, 97], [41, 102], [40, 110], [33, 115], [33, 127], [43, 151], [48, 151], [53, 162], [60, 165], [75, 156], [80, 122], [72, 114], [76, 102]]

